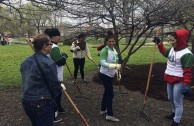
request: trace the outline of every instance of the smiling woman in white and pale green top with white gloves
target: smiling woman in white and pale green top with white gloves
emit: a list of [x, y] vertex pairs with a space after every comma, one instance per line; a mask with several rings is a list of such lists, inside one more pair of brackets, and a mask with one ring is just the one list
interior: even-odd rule
[[106, 47], [100, 52], [100, 73], [99, 77], [104, 85], [104, 94], [101, 101], [100, 115], [106, 115], [106, 120], [118, 122], [120, 121], [113, 116], [112, 102], [113, 102], [113, 79], [115, 73], [121, 68], [118, 64], [118, 53], [114, 49], [115, 38], [111, 31], [107, 33], [105, 38]]

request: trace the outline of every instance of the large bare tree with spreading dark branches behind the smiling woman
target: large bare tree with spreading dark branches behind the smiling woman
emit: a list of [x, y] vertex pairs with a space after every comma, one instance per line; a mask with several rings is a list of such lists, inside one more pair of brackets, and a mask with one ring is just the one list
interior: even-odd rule
[[[63, 16], [76, 20], [81, 30], [112, 29], [120, 62], [125, 65], [130, 56], [145, 44], [155, 28], [185, 27], [192, 24], [193, 0], [29, 0], [47, 6], [47, 10], [63, 10]], [[92, 29], [92, 27], [94, 29]], [[83, 29], [84, 28], [84, 29]], [[97, 30], [98, 29], [98, 30]], [[127, 40], [121, 50], [121, 38]], [[144, 38], [140, 41], [140, 38]], [[122, 53], [127, 52], [122, 57]]]

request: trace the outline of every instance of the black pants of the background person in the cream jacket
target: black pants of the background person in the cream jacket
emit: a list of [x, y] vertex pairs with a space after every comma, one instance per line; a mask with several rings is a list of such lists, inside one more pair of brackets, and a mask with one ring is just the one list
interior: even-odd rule
[[74, 63], [74, 79], [77, 79], [78, 70], [80, 68], [80, 74], [83, 80], [84, 79], [85, 58], [82, 58], [82, 59], [73, 58], [73, 63]]

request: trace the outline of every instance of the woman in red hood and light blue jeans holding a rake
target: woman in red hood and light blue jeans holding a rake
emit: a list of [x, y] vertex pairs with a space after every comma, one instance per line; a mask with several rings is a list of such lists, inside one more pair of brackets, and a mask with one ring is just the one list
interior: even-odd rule
[[153, 42], [158, 45], [159, 51], [168, 59], [164, 73], [167, 82], [168, 100], [172, 113], [165, 118], [172, 120], [171, 126], [180, 124], [183, 114], [183, 97], [189, 95], [192, 79], [193, 54], [186, 47], [189, 32], [186, 29], [176, 30], [171, 34], [172, 47], [166, 49], [159, 37], [154, 37]]

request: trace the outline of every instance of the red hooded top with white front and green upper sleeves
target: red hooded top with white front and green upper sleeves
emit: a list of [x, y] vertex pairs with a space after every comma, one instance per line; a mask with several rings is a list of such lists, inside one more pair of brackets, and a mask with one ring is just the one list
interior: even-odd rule
[[189, 32], [185, 29], [177, 30], [177, 45], [166, 49], [163, 43], [158, 44], [159, 51], [168, 58], [164, 73], [164, 80], [169, 84], [182, 82], [188, 85], [192, 80], [192, 65], [194, 57], [186, 47]]

